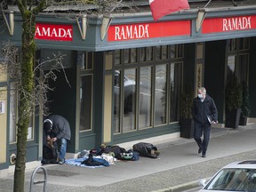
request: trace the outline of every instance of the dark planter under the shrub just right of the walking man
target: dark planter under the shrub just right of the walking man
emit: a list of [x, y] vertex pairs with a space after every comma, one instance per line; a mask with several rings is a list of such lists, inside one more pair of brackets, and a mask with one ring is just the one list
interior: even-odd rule
[[241, 108], [226, 111], [225, 127], [237, 128], [241, 115]]

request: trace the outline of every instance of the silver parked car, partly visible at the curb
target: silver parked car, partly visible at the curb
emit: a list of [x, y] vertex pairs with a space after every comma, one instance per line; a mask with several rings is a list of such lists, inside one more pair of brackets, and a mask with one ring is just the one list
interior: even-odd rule
[[200, 180], [199, 192], [256, 191], [256, 160], [239, 161], [220, 169], [211, 180]]

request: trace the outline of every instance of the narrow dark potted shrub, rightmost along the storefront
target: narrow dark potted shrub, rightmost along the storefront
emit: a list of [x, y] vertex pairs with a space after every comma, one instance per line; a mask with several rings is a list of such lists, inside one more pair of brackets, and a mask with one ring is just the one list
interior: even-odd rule
[[249, 90], [246, 82], [242, 84], [242, 105], [241, 105], [241, 116], [239, 120], [240, 125], [247, 124], [247, 117], [250, 116], [251, 105], [249, 100]]

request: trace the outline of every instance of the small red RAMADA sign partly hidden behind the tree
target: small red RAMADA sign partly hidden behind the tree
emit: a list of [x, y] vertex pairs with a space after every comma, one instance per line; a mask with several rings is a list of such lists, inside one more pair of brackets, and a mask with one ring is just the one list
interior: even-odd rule
[[72, 25], [51, 25], [37, 23], [35, 38], [54, 41], [72, 41], [73, 27]]

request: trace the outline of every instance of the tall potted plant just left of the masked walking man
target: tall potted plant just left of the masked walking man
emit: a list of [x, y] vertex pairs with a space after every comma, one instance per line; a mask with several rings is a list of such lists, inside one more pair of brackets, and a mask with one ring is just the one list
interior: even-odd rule
[[194, 137], [194, 124], [191, 115], [193, 100], [192, 86], [187, 86], [181, 95], [180, 137]]

